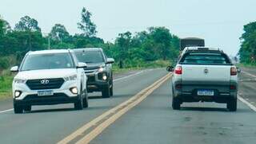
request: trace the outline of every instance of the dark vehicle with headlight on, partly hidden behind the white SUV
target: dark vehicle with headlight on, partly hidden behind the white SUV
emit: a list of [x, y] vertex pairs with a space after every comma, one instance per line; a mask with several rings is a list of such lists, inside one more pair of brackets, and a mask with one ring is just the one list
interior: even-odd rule
[[101, 48], [74, 49], [74, 53], [80, 62], [87, 64], [87, 91], [102, 91], [103, 98], [113, 95], [114, 59], [107, 58]]

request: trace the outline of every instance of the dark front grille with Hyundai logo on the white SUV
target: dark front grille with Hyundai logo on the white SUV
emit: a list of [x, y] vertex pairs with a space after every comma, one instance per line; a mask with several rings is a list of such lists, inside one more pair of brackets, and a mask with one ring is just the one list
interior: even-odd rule
[[[42, 84], [42, 80], [49, 80], [49, 83]], [[65, 80], [62, 78], [58, 79], [41, 79], [41, 80], [27, 80], [26, 85], [31, 90], [43, 90], [43, 89], [58, 89], [62, 87]]]

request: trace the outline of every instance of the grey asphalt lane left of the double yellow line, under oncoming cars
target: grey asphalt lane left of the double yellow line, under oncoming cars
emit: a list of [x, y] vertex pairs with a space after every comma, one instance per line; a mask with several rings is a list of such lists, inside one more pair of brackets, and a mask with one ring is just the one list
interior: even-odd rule
[[[14, 115], [13, 111], [0, 113], [0, 143], [56, 143], [166, 73], [165, 69], [154, 69], [115, 77], [114, 96], [102, 99], [97, 94], [93, 95], [94, 99], [89, 99], [89, 108], [82, 111], [74, 111], [73, 104], [62, 104], [32, 107], [32, 112], [22, 115]], [[9, 105], [7, 107], [10, 108]]]

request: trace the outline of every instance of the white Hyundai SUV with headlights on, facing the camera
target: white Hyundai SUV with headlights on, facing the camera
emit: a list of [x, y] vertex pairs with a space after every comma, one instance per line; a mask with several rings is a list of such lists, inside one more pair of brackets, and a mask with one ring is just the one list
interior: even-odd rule
[[74, 103], [88, 107], [85, 63], [72, 50], [43, 50], [26, 53], [13, 81], [14, 113], [31, 111], [32, 105]]

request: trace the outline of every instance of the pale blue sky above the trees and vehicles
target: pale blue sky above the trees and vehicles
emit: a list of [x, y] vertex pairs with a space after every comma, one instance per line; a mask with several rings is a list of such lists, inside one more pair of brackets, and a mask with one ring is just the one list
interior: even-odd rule
[[97, 36], [114, 41], [118, 33], [165, 26], [178, 37], [201, 37], [208, 47], [238, 53], [243, 25], [256, 21], [255, 0], [0, 0], [0, 15], [12, 28], [25, 15], [35, 18], [43, 33], [54, 24], [81, 33], [78, 21], [86, 7]]

